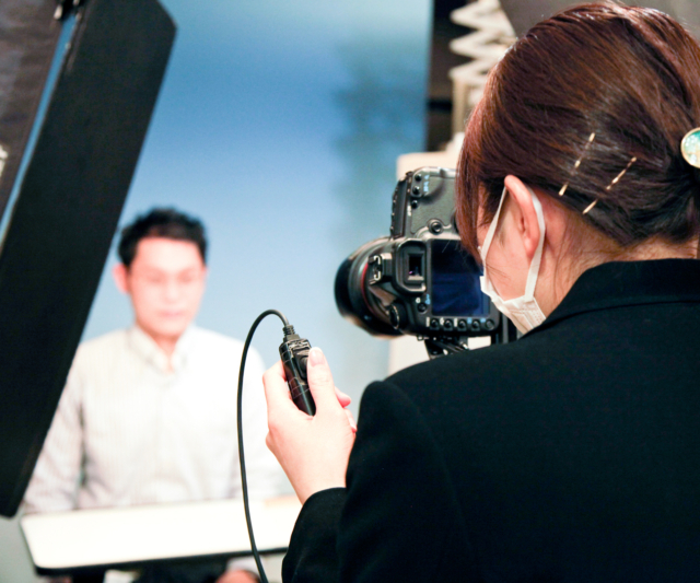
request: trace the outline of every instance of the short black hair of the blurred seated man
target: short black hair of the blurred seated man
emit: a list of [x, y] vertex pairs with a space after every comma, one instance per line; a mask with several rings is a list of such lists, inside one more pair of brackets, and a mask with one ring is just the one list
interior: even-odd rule
[[205, 225], [198, 219], [175, 209], [151, 209], [139, 214], [136, 220], [121, 230], [119, 258], [128, 268], [136, 257], [139, 241], [148, 237], [163, 237], [175, 241], [189, 241], [199, 248], [202, 261], [207, 263], [207, 235]]

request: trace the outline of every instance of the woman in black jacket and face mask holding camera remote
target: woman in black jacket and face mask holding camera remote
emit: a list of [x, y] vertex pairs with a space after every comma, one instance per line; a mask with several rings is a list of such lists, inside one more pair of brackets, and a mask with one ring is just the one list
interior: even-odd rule
[[700, 47], [584, 4], [490, 74], [458, 168], [465, 246], [524, 336], [372, 384], [357, 436], [320, 351], [317, 412], [266, 373], [304, 503], [285, 582], [696, 581]]

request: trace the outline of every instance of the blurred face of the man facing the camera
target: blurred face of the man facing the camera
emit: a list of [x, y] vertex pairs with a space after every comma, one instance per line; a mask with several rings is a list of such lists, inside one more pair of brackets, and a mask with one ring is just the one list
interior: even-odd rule
[[162, 237], [141, 240], [131, 266], [115, 269], [117, 285], [131, 296], [137, 324], [153, 338], [179, 338], [197, 315], [206, 277], [195, 243]]

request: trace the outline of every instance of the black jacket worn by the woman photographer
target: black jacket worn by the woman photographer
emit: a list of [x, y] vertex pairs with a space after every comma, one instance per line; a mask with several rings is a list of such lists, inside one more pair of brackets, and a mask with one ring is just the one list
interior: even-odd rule
[[605, 264], [517, 342], [368, 387], [285, 583], [700, 581], [700, 261]]

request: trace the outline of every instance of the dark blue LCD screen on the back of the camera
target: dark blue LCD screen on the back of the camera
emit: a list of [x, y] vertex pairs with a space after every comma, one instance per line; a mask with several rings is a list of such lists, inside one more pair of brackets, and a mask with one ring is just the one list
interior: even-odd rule
[[481, 293], [481, 269], [457, 241], [432, 242], [432, 313], [435, 316], [487, 316], [489, 299]]

